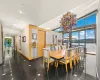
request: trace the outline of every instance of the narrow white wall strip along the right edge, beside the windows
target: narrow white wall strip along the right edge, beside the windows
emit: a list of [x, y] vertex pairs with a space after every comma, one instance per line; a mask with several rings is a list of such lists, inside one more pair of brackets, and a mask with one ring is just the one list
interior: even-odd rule
[[97, 77], [100, 80], [100, 2], [99, 2], [99, 6], [98, 6], [96, 34], [97, 34], [97, 36], [96, 36], [96, 40], [97, 40], [96, 71], [97, 71]]

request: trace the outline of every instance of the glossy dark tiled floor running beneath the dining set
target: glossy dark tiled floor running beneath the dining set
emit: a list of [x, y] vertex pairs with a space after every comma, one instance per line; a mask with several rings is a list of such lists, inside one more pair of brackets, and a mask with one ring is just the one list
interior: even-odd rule
[[20, 54], [15, 55], [16, 57], [6, 59], [4, 65], [0, 66], [0, 80], [85, 80], [84, 61], [72, 70], [68, 67], [69, 71], [66, 73], [65, 65], [59, 64], [58, 68], [51, 65], [47, 71], [42, 68], [42, 58], [28, 61]]

